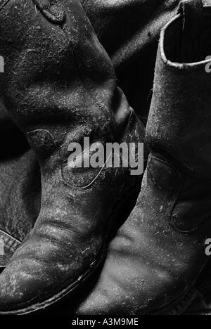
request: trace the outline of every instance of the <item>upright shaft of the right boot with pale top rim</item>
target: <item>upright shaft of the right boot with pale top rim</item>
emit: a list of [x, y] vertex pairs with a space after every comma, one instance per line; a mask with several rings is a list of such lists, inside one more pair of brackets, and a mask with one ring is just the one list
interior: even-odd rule
[[210, 18], [210, 6], [183, 1], [177, 17], [162, 30], [146, 132], [152, 149], [172, 157], [189, 174], [209, 179]]

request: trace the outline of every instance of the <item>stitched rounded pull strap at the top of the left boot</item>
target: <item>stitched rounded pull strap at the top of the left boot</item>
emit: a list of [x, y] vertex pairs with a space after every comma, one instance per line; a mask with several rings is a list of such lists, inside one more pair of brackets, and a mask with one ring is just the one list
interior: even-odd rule
[[65, 9], [60, 0], [33, 0], [33, 2], [49, 22], [56, 25], [63, 24]]

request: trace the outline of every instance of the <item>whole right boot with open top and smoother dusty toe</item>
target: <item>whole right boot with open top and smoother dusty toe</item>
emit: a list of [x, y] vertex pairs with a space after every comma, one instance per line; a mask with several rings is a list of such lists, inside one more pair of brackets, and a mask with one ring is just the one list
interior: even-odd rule
[[181, 314], [211, 238], [211, 7], [183, 1], [161, 32], [136, 207], [78, 314]]

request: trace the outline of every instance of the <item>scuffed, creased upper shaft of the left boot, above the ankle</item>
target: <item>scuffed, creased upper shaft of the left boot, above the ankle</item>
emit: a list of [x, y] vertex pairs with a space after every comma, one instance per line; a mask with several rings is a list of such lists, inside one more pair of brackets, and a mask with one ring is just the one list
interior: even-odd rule
[[11, 0], [3, 5], [1, 89], [6, 108], [30, 134], [32, 147], [41, 140], [41, 147], [47, 143], [46, 149], [51, 148], [51, 137], [60, 143], [74, 129], [78, 139], [87, 131], [93, 138], [115, 139], [131, 110], [79, 1]]

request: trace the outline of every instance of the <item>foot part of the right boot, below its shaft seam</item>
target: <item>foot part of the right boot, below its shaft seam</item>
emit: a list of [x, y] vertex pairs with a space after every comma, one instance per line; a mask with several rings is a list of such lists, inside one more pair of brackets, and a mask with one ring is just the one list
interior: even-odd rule
[[[179, 194], [179, 176], [174, 167], [151, 158], [136, 207], [113, 240], [101, 277], [79, 314], [149, 314], [164, 307], [174, 311], [174, 306], [175, 312], [182, 310], [179, 299], [207, 263], [210, 222], [200, 197], [182, 206], [186, 193]], [[196, 205], [200, 218], [196, 212], [196, 219], [190, 219]], [[176, 210], [178, 222], [172, 217]]]

